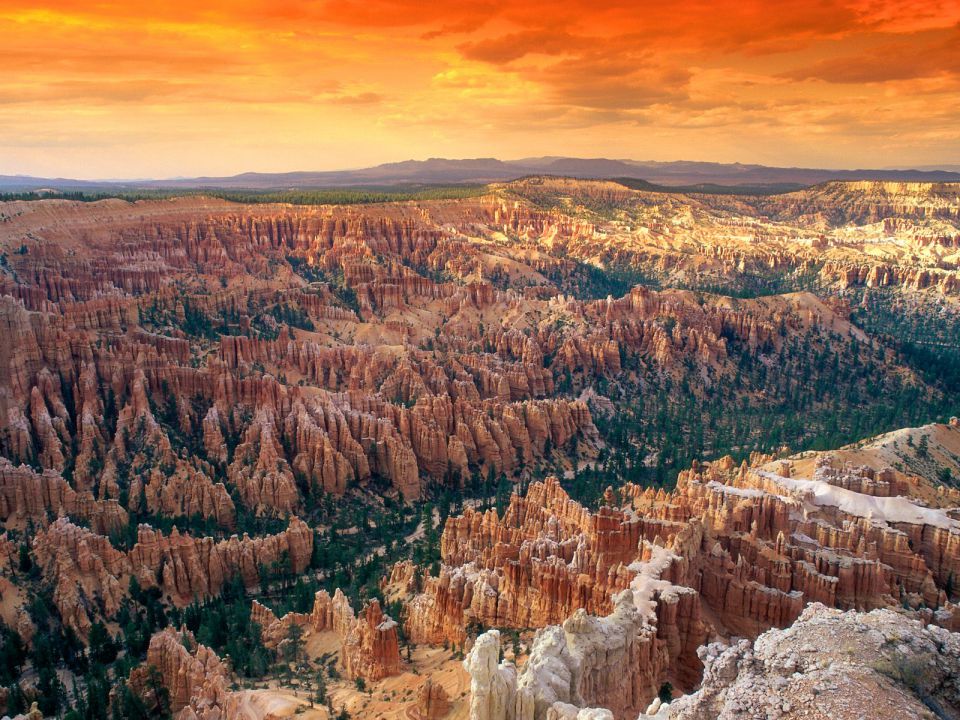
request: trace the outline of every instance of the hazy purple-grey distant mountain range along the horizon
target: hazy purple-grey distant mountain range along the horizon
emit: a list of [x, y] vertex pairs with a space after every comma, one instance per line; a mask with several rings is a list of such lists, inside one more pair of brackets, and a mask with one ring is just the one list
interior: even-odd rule
[[650, 162], [607, 158], [541, 157], [521, 160], [473, 158], [405, 160], [359, 170], [256, 173], [230, 177], [171, 178], [167, 180], [94, 181], [0, 175], [0, 191], [55, 189], [61, 191], [116, 191], [121, 189], [288, 190], [346, 187], [391, 187], [489, 183], [527, 175], [576, 178], [629, 178], [667, 186], [770, 187], [792, 189], [829, 180], [894, 180], [960, 182], [960, 166], [917, 170], [824, 170], [710, 162]]

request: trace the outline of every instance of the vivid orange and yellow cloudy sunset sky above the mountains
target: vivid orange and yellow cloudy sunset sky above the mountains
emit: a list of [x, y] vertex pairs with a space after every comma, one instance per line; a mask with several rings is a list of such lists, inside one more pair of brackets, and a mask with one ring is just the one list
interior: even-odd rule
[[0, 0], [0, 62], [0, 173], [960, 164], [960, 0]]

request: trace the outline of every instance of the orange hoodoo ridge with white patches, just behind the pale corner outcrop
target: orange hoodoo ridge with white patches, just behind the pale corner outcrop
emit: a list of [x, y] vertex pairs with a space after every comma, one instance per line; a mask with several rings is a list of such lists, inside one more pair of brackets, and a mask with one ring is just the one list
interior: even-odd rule
[[[514, 707], [506, 717], [521, 717], [521, 691], [532, 688], [538, 720], [568, 713], [556, 703], [636, 717], [663, 681], [696, 686], [708, 634], [756, 637], [789, 626], [809, 603], [913, 606], [952, 627], [953, 514], [891, 495], [914, 487], [893, 471], [826, 468], [804, 479], [769, 456], [695, 463], [675, 491], [628, 484], [595, 513], [555, 479], [533, 483], [502, 518], [469, 508], [450, 518], [438, 577], [418, 583], [401, 564], [384, 587], [407, 598], [416, 642], [468, 645], [477, 626], [547, 628], [514, 700], [503, 701]], [[483, 673], [483, 688], [500, 683]]]

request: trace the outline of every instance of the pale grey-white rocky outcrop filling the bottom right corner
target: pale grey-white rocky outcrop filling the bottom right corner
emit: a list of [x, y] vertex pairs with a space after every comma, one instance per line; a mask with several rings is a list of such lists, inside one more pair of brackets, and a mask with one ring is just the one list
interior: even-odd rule
[[960, 718], [960, 634], [892, 610], [813, 603], [786, 630], [700, 653], [703, 684], [672, 720]]

